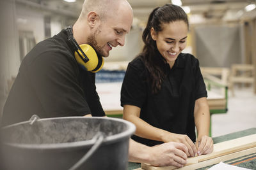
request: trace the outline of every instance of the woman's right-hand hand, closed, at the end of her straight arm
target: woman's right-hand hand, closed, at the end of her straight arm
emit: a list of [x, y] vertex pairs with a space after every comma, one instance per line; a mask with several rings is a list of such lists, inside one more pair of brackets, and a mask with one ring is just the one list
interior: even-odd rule
[[209, 136], [202, 136], [202, 138], [198, 138], [196, 141], [197, 155], [205, 155], [212, 153], [213, 151], [213, 141]]

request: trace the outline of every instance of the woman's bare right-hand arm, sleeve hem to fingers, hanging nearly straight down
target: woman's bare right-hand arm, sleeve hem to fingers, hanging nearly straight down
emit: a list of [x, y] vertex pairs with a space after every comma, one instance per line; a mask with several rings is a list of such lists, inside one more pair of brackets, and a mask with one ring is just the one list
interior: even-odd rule
[[195, 125], [197, 130], [196, 148], [198, 155], [211, 153], [213, 151], [213, 141], [209, 137], [210, 111], [206, 97], [201, 97], [195, 101]]

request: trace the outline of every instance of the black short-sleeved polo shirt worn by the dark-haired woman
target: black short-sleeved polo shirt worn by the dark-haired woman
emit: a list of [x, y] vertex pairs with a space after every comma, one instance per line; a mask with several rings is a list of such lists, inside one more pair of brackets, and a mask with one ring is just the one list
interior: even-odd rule
[[[170, 69], [165, 64], [166, 78], [161, 90], [152, 94], [147, 81], [148, 71], [141, 59], [136, 57], [129, 63], [121, 90], [121, 106], [129, 104], [141, 108], [140, 118], [148, 124], [177, 134], [187, 134], [195, 141], [195, 101], [207, 97], [199, 62], [189, 53], [180, 53]], [[140, 138], [132, 139], [148, 146], [160, 141]]]

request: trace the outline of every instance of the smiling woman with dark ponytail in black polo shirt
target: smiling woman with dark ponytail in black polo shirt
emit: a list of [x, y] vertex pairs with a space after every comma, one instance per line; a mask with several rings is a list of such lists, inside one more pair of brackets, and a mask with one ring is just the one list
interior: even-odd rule
[[136, 125], [132, 139], [148, 146], [184, 143], [188, 157], [194, 157], [211, 153], [213, 143], [199, 62], [182, 53], [188, 25], [188, 16], [180, 6], [166, 4], [150, 13], [142, 36], [143, 52], [129, 63], [125, 73], [121, 105], [125, 120]]

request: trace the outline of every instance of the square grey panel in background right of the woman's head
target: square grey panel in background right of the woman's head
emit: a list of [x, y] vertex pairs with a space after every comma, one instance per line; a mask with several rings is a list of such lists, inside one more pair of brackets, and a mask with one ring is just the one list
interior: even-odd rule
[[195, 27], [196, 57], [200, 66], [230, 67], [243, 58], [241, 29], [238, 24]]

